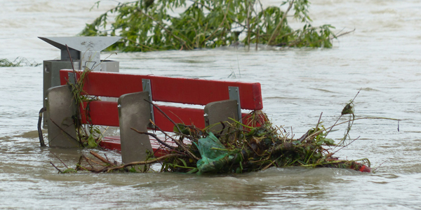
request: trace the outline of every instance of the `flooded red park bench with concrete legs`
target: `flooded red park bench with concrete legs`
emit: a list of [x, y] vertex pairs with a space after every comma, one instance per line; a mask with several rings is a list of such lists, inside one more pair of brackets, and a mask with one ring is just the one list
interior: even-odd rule
[[[72, 120], [76, 106], [67, 85], [67, 81], [74, 83], [74, 75], [79, 78], [79, 73], [72, 70], [60, 70], [61, 86], [47, 91], [49, 146], [79, 146]], [[229, 118], [241, 121], [247, 115], [242, 109], [263, 108], [260, 83], [91, 71], [86, 75], [83, 91], [92, 96], [118, 98], [118, 102], [92, 101], [77, 109], [82, 123], [119, 127], [120, 137], [105, 137], [100, 146], [121, 151], [123, 162], [145, 160], [147, 150], [157, 157], [168, 153], [159, 149], [147, 134], [139, 134], [132, 128], [140, 132], [153, 130], [151, 121], [165, 132], [173, 132], [174, 123], [204, 128]], [[151, 102], [161, 103], [155, 106], [174, 123]], [[204, 109], [182, 104], [201, 105]]]

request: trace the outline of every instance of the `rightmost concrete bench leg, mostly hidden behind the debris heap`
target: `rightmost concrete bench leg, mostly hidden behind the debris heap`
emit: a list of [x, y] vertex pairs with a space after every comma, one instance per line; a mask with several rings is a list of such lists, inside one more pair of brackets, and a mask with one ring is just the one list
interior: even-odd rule
[[[231, 121], [228, 118], [233, 118], [239, 120], [238, 118], [238, 106], [237, 101], [234, 99], [220, 101], [220, 102], [210, 102], [206, 104], [205, 109], [205, 124], [213, 125], [215, 123]], [[218, 124], [210, 128], [211, 132], [220, 132], [222, 130], [222, 125]]]

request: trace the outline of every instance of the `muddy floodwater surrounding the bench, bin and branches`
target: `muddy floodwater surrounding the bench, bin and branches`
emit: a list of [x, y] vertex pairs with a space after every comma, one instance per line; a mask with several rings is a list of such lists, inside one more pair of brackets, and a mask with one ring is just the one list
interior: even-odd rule
[[[42, 62], [60, 52], [37, 36], [74, 36], [111, 8], [104, 1], [0, 0], [0, 58]], [[279, 4], [281, 1], [264, 1]], [[301, 136], [332, 125], [355, 100], [359, 120], [343, 159], [369, 158], [375, 174], [271, 168], [235, 176], [57, 174], [87, 150], [40, 148], [42, 67], [0, 68], [0, 208], [5, 209], [417, 209], [421, 206], [421, 1], [317, 0], [314, 25], [355, 31], [331, 49], [119, 53], [121, 72], [259, 82], [274, 125]], [[102, 57], [108, 54], [103, 53]], [[229, 77], [235, 73], [236, 78]], [[339, 127], [330, 137], [338, 139]], [[100, 151], [100, 153], [104, 153]], [[118, 153], [107, 152], [119, 159]]]

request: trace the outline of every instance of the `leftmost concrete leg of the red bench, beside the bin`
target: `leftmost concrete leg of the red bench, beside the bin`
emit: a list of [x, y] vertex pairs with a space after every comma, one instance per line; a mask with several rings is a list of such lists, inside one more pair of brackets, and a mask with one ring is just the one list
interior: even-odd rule
[[62, 148], [80, 147], [72, 119], [76, 105], [69, 87], [67, 85], [51, 87], [46, 95], [48, 145]]

